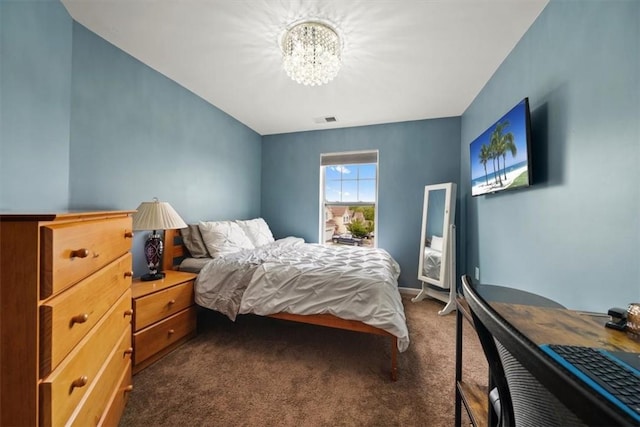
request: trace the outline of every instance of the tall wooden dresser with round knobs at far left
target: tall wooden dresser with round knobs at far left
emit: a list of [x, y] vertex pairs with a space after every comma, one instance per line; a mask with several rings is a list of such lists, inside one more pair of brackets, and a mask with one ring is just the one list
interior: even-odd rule
[[0, 425], [117, 425], [132, 388], [131, 213], [0, 214]]

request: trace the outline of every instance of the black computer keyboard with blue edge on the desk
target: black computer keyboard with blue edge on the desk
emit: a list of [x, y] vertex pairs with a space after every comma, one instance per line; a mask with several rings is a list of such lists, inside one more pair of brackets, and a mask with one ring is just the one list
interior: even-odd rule
[[[541, 348], [640, 422], [640, 370], [603, 349], [554, 344]], [[634, 353], [628, 354], [637, 358]]]

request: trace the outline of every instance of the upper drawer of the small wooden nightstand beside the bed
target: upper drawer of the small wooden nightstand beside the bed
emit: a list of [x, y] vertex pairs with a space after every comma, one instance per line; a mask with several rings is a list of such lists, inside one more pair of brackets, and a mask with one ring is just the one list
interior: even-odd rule
[[134, 331], [193, 305], [193, 281], [133, 301]]

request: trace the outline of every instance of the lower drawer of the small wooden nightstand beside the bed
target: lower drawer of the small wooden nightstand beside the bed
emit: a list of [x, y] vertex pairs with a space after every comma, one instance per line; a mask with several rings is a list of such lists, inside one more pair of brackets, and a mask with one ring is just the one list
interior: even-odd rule
[[192, 306], [133, 335], [134, 364], [144, 361], [196, 329], [197, 309]]

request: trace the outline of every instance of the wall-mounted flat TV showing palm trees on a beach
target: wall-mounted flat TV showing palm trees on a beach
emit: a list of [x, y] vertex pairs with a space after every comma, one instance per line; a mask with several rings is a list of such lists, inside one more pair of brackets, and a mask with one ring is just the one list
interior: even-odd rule
[[531, 184], [530, 127], [525, 98], [470, 144], [472, 196]]

